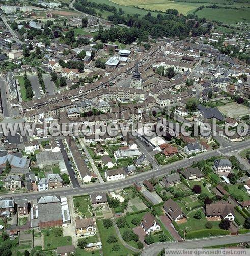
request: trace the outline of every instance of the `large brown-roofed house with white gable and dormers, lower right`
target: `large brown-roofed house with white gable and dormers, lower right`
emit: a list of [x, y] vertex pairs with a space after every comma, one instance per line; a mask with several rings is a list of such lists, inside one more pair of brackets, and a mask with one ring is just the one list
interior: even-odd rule
[[225, 201], [218, 201], [211, 204], [206, 204], [205, 207], [207, 217], [220, 217], [234, 221], [234, 205]]

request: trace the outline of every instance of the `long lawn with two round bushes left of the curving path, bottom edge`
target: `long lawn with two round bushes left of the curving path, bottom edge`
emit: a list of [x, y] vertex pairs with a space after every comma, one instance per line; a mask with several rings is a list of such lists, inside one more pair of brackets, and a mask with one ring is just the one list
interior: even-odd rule
[[[128, 250], [126, 247], [122, 245], [122, 243], [116, 235], [114, 226], [107, 229], [103, 226], [102, 220], [97, 220], [96, 223], [101, 237], [103, 255], [121, 256], [132, 253], [130, 250]], [[112, 251], [112, 247], [114, 246], [114, 244], [110, 244], [107, 242], [107, 238], [109, 237], [109, 235], [116, 236], [118, 241], [114, 244], [119, 244], [120, 248], [118, 251]]]

